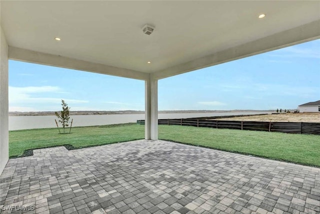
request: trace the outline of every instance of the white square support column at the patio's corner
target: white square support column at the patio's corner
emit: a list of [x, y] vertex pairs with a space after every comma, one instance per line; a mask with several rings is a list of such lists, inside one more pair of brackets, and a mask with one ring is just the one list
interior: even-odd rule
[[[151, 75], [150, 75], [151, 76]], [[145, 131], [144, 138], [158, 139], [158, 81], [149, 78], [145, 81]]]

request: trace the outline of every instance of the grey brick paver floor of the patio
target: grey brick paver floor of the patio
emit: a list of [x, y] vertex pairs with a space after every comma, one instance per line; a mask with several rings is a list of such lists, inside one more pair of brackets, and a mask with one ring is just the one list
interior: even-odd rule
[[138, 140], [10, 159], [0, 193], [25, 213], [320, 213], [320, 169]]

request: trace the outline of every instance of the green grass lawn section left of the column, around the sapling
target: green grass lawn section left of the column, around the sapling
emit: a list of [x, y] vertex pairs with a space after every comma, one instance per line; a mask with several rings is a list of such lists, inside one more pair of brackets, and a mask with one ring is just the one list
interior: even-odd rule
[[136, 124], [74, 127], [70, 134], [59, 134], [57, 128], [9, 131], [9, 157], [32, 148], [65, 144], [79, 148], [143, 138], [144, 126]]

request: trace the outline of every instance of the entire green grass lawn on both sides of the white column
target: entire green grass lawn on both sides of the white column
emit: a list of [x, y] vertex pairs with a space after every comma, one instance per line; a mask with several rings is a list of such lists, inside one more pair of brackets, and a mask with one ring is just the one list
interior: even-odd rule
[[[320, 136], [263, 131], [197, 128], [159, 125], [159, 139], [215, 148], [305, 165], [320, 166]], [[26, 149], [70, 144], [75, 148], [144, 138], [144, 126], [119, 124], [75, 127], [71, 134], [57, 129], [30, 129], [9, 132], [9, 156]]]

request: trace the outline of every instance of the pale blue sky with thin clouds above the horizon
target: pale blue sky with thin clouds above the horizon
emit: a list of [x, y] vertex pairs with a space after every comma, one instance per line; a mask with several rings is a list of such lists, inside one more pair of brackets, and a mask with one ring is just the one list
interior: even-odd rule
[[[9, 61], [9, 111], [144, 110], [144, 81]], [[295, 109], [320, 100], [320, 40], [158, 81], [159, 110]]]

